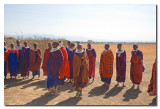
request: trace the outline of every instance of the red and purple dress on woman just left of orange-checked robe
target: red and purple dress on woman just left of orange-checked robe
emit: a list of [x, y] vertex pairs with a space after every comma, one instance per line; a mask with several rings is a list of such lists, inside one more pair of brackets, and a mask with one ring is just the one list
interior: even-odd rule
[[86, 49], [88, 60], [89, 60], [89, 78], [95, 77], [95, 62], [96, 62], [96, 52], [95, 49], [92, 48]]

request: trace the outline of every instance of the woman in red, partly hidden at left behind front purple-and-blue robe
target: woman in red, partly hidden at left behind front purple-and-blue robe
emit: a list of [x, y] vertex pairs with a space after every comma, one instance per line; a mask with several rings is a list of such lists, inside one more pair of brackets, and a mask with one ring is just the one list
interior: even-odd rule
[[51, 43], [48, 43], [48, 48], [44, 52], [44, 58], [43, 58], [43, 64], [42, 64], [43, 76], [48, 76], [47, 62], [49, 59], [49, 53], [51, 49], [52, 49], [52, 45]]

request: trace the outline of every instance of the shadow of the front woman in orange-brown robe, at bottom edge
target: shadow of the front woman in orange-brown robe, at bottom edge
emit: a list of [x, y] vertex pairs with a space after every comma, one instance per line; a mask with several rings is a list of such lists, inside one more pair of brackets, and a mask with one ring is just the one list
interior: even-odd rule
[[74, 106], [76, 105], [82, 98], [81, 97], [71, 97], [68, 98], [65, 101], [62, 101], [58, 104], [56, 104], [57, 106]]

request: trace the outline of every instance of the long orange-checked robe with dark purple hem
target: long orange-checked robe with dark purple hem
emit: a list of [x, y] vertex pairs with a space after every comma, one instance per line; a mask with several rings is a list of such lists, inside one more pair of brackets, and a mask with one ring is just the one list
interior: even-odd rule
[[113, 75], [113, 53], [111, 50], [105, 50], [101, 54], [100, 58], [100, 77], [101, 81], [107, 84], [111, 83], [111, 78]]

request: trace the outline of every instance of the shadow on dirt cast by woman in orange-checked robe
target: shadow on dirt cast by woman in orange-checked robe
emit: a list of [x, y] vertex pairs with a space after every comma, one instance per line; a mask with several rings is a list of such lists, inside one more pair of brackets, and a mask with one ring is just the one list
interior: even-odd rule
[[109, 87], [106, 85], [95, 87], [88, 93], [89, 94], [88, 97], [103, 95], [107, 90], [109, 90]]

